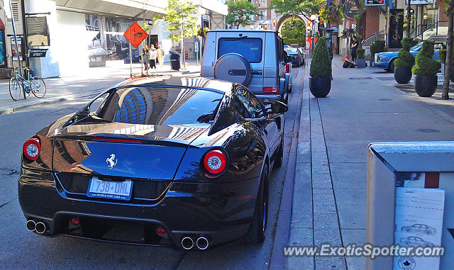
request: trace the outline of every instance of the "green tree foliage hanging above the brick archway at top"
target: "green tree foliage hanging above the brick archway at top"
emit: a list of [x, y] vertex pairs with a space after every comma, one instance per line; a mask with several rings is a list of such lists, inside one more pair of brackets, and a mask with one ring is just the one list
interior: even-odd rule
[[270, 8], [279, 15], [303, 16], [309, 20], [312, 14], [318, 14], [326, 0], [271, 0]]

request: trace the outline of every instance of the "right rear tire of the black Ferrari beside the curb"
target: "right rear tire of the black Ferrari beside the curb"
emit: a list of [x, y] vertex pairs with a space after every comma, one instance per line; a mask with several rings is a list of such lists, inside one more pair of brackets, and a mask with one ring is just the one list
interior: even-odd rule
[[268, 217], [268, 167], [265, 164], [260, 177], [260, 188], [258, 190], [257, 200], [255, 202], [255, 210], [253, 221], [246, 235], [244, 242], [250, 244], [258, 244], [265, 240], [265, 230], [267, 227]]

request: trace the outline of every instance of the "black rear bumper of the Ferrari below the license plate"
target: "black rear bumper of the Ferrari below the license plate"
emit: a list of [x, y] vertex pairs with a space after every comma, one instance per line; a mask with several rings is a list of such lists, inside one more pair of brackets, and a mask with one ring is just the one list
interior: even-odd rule
[[[18, 199], [27, 220], [43, 221], [45, 236], [70, 235], [93, 240], [181, 247], [185, 236], [204, 236], [209, 246], [216, 246], [243, 237], [253, 218], [260, 178], [231, 183], [177, 183], [154, 205], [132, 205], [124, 201], [88, 201], [63, 198], [50, 181], [24, 176], [19, 178]], [[80, 227], [72, 227], [70, 218], [81, 219]], [[82, 232], [82, 220], [107, 226], [127, 223], [138, 227], [143, 235], [151, 232], [152, 240], [112, 239]], [[25, 224], [25, 221], [24, 221]], [[156, 234], [157, 226], [165, 228], [165, 237]], [[132, 229], [131, 229], [132, 230]], [[135, 232], [137, 232], [137, 230]], [[109, 235], [109, 232], [106, 234]], [[140, 240], [140, 237], [138, 238]]]

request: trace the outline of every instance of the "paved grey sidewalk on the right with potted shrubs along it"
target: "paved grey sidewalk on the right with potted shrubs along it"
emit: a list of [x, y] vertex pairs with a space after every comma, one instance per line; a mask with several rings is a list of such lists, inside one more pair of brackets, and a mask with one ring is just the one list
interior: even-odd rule
[[[289, 244], [364, 244], [367, 145], [453, 140], [454, 101], [439, 91], [421, 98], [381, 69], [343, 69], [341, 57], [333, 60], [330, 94], [315, 99], [307, 73]], [[365, 258], [289, 257], [287, 269], [362, 270]]]

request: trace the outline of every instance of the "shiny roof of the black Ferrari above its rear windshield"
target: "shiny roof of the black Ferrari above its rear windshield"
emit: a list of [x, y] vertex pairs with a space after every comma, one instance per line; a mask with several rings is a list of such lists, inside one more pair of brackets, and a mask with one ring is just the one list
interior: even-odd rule
[[172, 77], [158, 76], [145, 77], [137, 79], [128, 79], [116, 85], [117, 88], [128, 86], [170, 86], [183, 88], [196, 88], [205, 90], [214, 90], [223, 94], [231, 94], [233, 84], [230, 81], [222, 81], [219, 79], [207, 79], [204, 77]]

